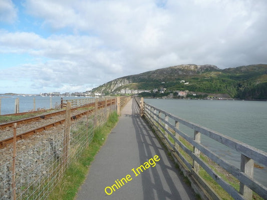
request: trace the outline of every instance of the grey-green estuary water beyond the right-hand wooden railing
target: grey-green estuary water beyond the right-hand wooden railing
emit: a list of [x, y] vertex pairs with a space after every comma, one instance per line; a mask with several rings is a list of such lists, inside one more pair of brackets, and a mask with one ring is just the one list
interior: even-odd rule
[[[145, 102], [267, 152], [267, 101], [146, 98]], [[180, 128], [193, 136], [192, 129]], [[240, 153], [204, 135], [201, 143], [240, 168]], [[266, 166], [254, 168], [254, 177], [267, 186]]]

